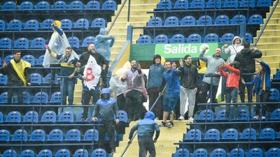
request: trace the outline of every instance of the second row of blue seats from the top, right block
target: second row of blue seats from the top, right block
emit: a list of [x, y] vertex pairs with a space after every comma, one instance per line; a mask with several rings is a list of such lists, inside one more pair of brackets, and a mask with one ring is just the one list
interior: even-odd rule
[[[219, 15], [216, 17], [214, 24], [216, 25], [230, 25], [246, 23], [246, 17], [244, 15], [235, 15], [232, 20], [227, 15]], [[195, 25], [212, 25], [212, 17], [209, 15], [203, 15], [199, 20], [195, 20], [193, 16], [183, 17], [181, 21], [176, 16], [167, 17], [162, 25], [162, 19], [160, 17], [152, 17], [148, 22], [148, 27], [178, 27], [178, 26], [195, 26]], [[248, 19], [248, 24], [262, 24], [262, 16], [255, 14], [251, 15]]]

